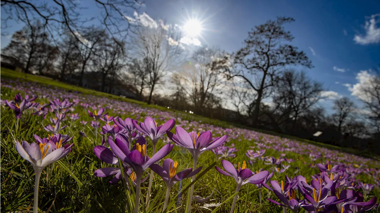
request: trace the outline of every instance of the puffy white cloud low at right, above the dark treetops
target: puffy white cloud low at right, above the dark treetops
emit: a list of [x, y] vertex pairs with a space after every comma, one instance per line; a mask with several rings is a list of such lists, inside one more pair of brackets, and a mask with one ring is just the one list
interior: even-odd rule
[[366, 100], [368, 96], [364, 92], [364, 89], [372, 85], [371, 82], [375, 78], [375, 75], [370, 74], [370, 72], [371, 70], [361, 70], [358, 74], [356, 74], [356, 80], [358, 83], [354, 85], [345, 84], [345, 86], [347, 86], [348, 90], [351, 92], [352, 96], [356, 96], [361, 100]]

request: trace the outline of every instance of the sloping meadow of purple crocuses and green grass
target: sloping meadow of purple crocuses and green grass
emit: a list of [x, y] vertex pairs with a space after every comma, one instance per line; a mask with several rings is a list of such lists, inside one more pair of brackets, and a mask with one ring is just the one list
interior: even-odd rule
[[[378, 212], [376, 157], [32, 75], [0, 76], [1, 212], [36, 212], [36, 204], [54, 213]], [[25, 143], [37, 143], [38, 155]]]

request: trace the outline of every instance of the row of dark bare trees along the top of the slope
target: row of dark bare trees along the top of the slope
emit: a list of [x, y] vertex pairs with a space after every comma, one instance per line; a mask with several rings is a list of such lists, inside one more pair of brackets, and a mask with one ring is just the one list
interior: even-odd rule
[[[226, 53], [184, 44], [180, 29], [161, 20], [152, 20], [152, 25], [134, 20], [133, 30], [115, 36], [107, 25], [73, 30], [63, 24], [63, 30], [52, 33], [42, 19], [16, 31], [2, 55], [14, 57], [27, 73], [250, 127], [379, 152], [380, 78], [361, 88], [363, 109], [346, 97], [328, 96], [322, 83], [304, 71], [313, 67], [306, 53], [291, 45], [294, 37], [284, 24], [293, 21], [279, 17], [256, 26], [248, 32], [244, 47]], [[321, 106], [331, 98], [332, 113]]]

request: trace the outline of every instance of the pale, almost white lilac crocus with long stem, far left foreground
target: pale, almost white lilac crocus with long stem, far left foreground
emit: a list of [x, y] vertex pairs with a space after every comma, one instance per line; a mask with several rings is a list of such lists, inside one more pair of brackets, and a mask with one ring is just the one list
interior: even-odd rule
[[17, 152], [22, 158], [29, 161], [35, 171], [35, 185], [34, 185], [34, 200], [33, 200], [33, 213], [38, 212], [38, 188], [40, 185], [40, 177], [42, 170], [50, 163], [60, 160], [65, 157], [69, 152], [65, 147], [60, 147], [52, 150], [50, 143], [36, 143], [29, 144], [26, 141], [22, 141], [20, 144], [16, 142]]

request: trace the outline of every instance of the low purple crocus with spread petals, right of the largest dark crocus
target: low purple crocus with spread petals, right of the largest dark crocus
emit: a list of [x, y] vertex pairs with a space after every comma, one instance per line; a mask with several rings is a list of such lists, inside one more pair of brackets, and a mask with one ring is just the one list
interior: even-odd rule
[[189, 168], [177, 173], [177, 168], [178, 168], [178, 162], [177, 161], [174, 162], [170, 158], [167, 158], [164, 160], [162, 167], [158, 164], [153, 164], [152, 166], [150, 166], [150, 169], [152, 169], [152, 171], [160, 175], [160, 177], [166, 184], [166, 196], [165, 196], [165, 202], [164, 202], [164, 207], [162, 211], [164, 211], [166, 209], [166, 206], [168, 205], [171, 187], [178, 181], [181, 181], [181, 180], [184, 180], [196, 175], [202, 169], [202, 167], [199, 167], [198, 169], [195, 169], [193, 171], [193, 168]]

